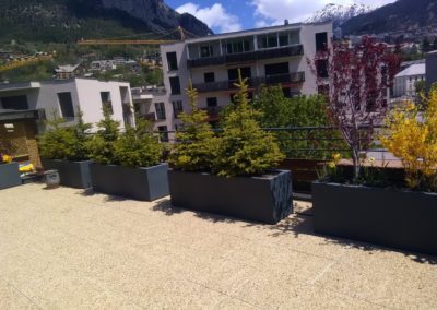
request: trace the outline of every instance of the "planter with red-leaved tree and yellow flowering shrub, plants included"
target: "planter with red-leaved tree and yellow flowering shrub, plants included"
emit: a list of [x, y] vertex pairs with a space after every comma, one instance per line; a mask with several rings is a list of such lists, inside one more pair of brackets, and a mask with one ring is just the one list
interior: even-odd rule
[[[380, 140], [402, 159], [408, 178], [405, 183], [383, 178], [383, 168], [373, 167], [373, 158], [366, 162], [359, 155], [376, 136], [374, 124], [386, 117], [381, 94], [387, 84], [380, 83], [388, 82], [391, 76], [385, 76], [380, 70], [389, 68], [387, 59], [390, 56], [371, 41], [364, 41], [355, 49], [341, 49], [341, 57], [334, 50], [332, 65], [338, 67], [336, 71], [331, 71], [334, 81], [330, 91], [331, 112], [346, 143], [353, 148], [355, 165], [349, 177], [347, 167], [339, 165], [339, 157], [334, 156], [326, 167], [328, 174], [312, 183], [315, 231], [437, 254], [437, 194], [433, 186], [437, 180], [437, 157], [432, 151], [437, 147], [437, 93], [430, 95], [428, 109], [422, 119], [417, 118], [414, 104], [406, 110], [395, 109], [389, 114], [388, 129]], [[349, 78], [350, 82], [341, 70], [343, 64], [356, 69], [349, 71], [354, 75]], [[367, 70], [367, 65], [371, 68]], [[359, 81], [362, 83], [357, 83]], [[336, 90], [336, 93], [335, 87], [341, 87], [341, 91]]]

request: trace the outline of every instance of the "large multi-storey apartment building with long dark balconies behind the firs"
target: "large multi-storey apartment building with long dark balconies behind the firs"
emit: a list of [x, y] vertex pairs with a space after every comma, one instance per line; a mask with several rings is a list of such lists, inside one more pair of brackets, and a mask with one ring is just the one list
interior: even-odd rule
[[149, 111], [162, 115], [164, 110], [162, 131], [177, 129], [177, 115], [188, 110], [185, 90], [191, 80], [199, 92], [199, 106], [209, 112], [210, 121], [216, 121], [220, 108], [236, 92], [238, 69], [249, 79], [250, 95], [262, 84], [281, 84], [287, 96], [317, 94], [317, 78], [309, 62], [316, 51], [330, 47], [331, 38], [331, 23], [299, 23], [162, 45], [167, 93], [162, 98], [164, 109], [151, 105]]

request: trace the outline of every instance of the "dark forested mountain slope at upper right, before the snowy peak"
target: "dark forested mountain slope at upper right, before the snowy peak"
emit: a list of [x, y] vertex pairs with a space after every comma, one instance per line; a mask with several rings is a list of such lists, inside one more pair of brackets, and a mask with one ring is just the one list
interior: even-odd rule
[[437, 0], [399, 0], [342, 25], [344, 35], [414, 32], [437, 28]]

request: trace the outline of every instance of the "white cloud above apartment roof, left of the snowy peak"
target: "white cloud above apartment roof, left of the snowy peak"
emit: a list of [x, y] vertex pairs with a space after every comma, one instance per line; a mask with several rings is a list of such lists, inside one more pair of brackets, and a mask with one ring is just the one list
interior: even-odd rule
[[[359, 3], [371, 7], [380, 7], [395, 0], [362, 0]], [[250, 0], [255, 7], [255, 14], [259, 17], [256, 25], [282, 24], [284, 20], [290, 22], [303, 22], [314, 12], [329, 3], [352, 4], [353, 0]]]

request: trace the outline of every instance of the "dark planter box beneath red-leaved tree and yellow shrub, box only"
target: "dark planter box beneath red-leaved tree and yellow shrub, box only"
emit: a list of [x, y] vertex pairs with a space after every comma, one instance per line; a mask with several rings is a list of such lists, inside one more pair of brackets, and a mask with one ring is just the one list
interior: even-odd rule
[[312, 183], [316, 233], [437, 254], [437, 194]]

